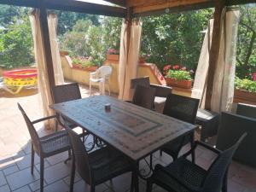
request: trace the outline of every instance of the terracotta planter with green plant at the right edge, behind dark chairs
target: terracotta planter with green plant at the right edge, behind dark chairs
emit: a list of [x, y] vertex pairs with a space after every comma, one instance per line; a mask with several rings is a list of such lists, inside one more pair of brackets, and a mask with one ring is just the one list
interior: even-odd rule
[[235, 97], [241, 100], [256, 102], [256, 81], [236, 77]]

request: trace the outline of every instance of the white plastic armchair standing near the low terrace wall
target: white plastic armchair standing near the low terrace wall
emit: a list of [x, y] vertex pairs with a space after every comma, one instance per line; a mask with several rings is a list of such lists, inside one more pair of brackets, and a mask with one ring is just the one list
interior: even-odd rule
[[90, 89], [91, 89], [91, 83], [99, 84], [99, 90], [101, 95], [105, 95], [105, 84], [108, 84], [108, 94], [110, 96], [108, 79], [111, 73], [112, 73], [112, 67], [110, 66], [99, 67], [96, 70], [96, 72], [90, 73]]

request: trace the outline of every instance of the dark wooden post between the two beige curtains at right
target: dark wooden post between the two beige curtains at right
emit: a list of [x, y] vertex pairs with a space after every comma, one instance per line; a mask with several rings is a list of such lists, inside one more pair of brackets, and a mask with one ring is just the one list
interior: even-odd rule
[[209, 55], [209, 69], [207, 76], [207, 93], [206, 93], [206, 109], [211, 110], [212, 102], [212, 88], [215, 71], [218, 64], [218, 55], [220, 48], [220, 38], [221, 38], [221, 23], [222, 23], [222, 11], [225, 6], [225, 0], [215, 1], [215, 12], [214, 12], [214, 22], [212, 29], [212, 45]]

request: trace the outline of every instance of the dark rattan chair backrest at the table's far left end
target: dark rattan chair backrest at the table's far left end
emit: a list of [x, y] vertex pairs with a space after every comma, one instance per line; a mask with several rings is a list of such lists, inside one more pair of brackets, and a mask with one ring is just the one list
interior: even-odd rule
[[52, 93], [55, 103], [69, 102], [82, 98], [78, 83], [56, 85], [53, 87]]

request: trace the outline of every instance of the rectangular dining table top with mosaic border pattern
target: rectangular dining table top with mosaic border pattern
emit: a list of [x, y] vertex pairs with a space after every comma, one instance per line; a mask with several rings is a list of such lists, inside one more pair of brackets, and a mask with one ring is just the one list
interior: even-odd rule
[[[110, 110], [105, 109], [108, 103]], [[132, 160], [141, 160], [196, 128], [196, 125], [110, 96], [91, 96], [54, 104], [50, 108], [102, 138]]]

